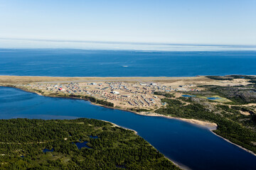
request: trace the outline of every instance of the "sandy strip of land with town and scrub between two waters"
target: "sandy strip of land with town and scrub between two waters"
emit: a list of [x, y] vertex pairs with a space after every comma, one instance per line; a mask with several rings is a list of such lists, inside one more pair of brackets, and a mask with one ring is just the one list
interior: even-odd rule
[[16, 77], [11, 86], [43, 96], [80, 98], [142, 115], [181, 118], [256, 153], [256, 77]]

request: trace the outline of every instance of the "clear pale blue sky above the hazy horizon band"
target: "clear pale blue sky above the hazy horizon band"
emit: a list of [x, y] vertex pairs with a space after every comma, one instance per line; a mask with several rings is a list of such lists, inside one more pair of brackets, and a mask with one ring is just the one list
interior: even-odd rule
[[256, 45], [255, 9], [255, 0], [0, 0], [0, 38]]

